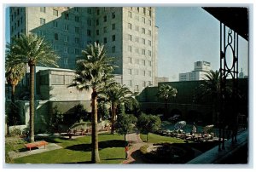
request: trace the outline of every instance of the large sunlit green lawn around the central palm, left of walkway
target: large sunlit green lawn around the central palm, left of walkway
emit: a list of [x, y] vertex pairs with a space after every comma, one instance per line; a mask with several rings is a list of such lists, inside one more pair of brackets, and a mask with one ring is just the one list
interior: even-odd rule
[[[38, 140], [54, 142], [63, 148], [23, 158], [15, 158], [13, 163], [90, 163], [90, 139], [90, 136], [79, 137], [72, 140], [64, 138], [38, 138]], [[124, 145], [125, 141], [123, 135], [99, 135], [101, 163], [121, 163], [124, 161]], [[6, 147], [6, 151], [9, 149], [10, 147]]]

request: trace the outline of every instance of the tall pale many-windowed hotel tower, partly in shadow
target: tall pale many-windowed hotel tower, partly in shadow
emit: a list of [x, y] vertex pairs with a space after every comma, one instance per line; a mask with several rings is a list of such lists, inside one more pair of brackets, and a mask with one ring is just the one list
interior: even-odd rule
[[155, 84], [158, 28], [152, 7], [11, 7], [10, 35], [36, 33], [75, 69], [88, 43], [104, 43], [119, 66], [114, 74], [133, 91]]

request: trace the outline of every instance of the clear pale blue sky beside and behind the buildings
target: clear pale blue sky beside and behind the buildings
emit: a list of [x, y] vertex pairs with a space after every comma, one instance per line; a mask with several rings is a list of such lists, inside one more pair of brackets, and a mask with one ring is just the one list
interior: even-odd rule
[[[9, 40], [9, 9], [6, 10], [6, 40]], [[194, 62], [211, 62], [219, 68], [219, 21], [201, 7], [157, 7], [159, 27], [158, 76], [178, 81], [178, 73], [194, 70]], [[239, 39], [239, 72], [248, 71], [248, 43]]]

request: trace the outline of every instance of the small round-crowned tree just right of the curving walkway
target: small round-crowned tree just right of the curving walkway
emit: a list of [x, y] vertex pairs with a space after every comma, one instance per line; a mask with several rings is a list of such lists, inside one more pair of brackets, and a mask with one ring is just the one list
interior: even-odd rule
[[161, 120], [159, 116], [143, 113], [137, 119], [137, 129], [139, 129], [142, 134], [147, 135], [147, 141], [148, 133], [157, 131], [160, 129], [160, 125]]

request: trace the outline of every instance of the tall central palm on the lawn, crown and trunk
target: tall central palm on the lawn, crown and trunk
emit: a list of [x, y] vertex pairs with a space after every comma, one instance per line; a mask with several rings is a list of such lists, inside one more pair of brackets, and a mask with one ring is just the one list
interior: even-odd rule
[[69, 87], [77, 87], [79, 90], [92, 89], [91, 93], [91, 162], [99, 163], [98, 134], [97, 134], [97, 96], [98, 90], [102, 89], [113, 78], [113, 66], [110, 64], [113, 58], [108, 58], [104, 45], [94, 43], [87, 45], [82, 51], [82, 60], [77, 61], [76, 76]]

